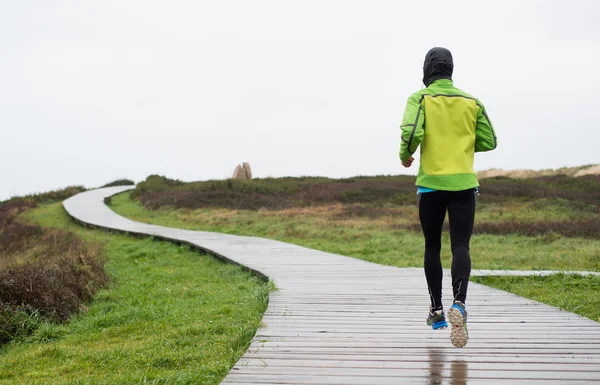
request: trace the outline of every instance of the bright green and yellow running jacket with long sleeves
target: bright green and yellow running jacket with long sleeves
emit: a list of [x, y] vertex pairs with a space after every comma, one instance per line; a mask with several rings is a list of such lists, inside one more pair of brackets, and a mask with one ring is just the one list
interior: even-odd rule
[[439, 79], [408, 98], [402, 119], [400, 159], [406, 162], [421, 145], [417, 186], [460, 191], [479, 186], [475, 152], [496, 148], [496, 134], [485, 107]]

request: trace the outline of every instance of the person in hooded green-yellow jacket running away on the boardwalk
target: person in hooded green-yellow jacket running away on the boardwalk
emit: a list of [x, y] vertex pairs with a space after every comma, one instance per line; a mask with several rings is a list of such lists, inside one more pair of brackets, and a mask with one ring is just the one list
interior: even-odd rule
[[425, 56], [426, 88], [408, 98], [400, 128], [400, 160], [410, 167], [421, 146], [417, 175], [419, 220], [425, 236], [425, 277], [431, 305], [427, 325], [448, 327], [442, 306], [442, 226], [446, 211], [450, 222], [452, 288], [454, 302], [448, 311], [450, 340], [463, 347], [469, 340], [465, 308], [471, 257], [469, 243], [475, 219], [479, 182], [473, 169], [474, 153], [497, 146], [496, 134], [483, 104], [454, 87], [452, 54], [432, 48]]

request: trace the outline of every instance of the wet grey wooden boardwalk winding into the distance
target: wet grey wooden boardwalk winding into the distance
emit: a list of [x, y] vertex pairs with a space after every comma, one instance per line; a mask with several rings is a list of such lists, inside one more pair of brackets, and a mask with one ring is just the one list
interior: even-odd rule
[[[85, 192], [64, 206], [80, 222], [196, 245], [274, 279], [279, 288], [264, 327], [223, 384], [600, 383], [600, 324], [594, 321], [472, 283], [471, 340], [457, 349], [447, 330], [424, 325], [428, 296], [420, 269], [134, 222], [103, 204], [126, 189]], [[447, 286], [445, 293], [451, 293]]]

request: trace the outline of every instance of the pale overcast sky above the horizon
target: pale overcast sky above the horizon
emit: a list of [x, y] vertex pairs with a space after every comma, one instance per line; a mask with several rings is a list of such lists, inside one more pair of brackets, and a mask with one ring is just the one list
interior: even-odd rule
[[3, 1], [0, 199], [149, 174], [416, 173], [425, 53], [485, 105], [477, 170], [600, 163], [600, 3]]

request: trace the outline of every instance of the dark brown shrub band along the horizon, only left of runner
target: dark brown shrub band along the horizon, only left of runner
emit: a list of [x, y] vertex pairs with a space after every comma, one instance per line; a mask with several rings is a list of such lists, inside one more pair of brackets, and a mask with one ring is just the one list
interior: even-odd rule
[[[149, 179], [152, 177], [149, 177]], [[160, 177], [163, 178], [163, 177]], [[179, 181], [178, 181], [179, 182]], [[154, 179], [138, 185], [132, 195], [146, 207], [177, 208], [223, 207], [259, 210], [315, 206], [329, 203], [366, 203], [370, 205], [414, 203], [414, 178], [356, 177], [266, 178], [251, 182], [238, 180], [207, 181], [168, 186]]]

